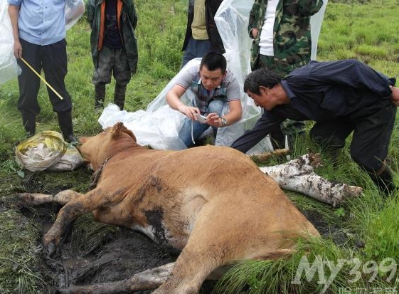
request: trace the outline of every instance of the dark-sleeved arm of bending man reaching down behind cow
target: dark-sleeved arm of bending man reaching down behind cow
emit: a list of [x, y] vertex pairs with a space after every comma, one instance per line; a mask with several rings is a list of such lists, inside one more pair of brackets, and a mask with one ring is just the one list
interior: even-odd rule
[[282, 118], [277, 118], [274, 115], [270, 115], [270, 112], [265, 111], [257, 120], [255, 126], [252, 130], [248, 130], [233, 142], [230, 146], [232, 148], [238, 149], [240, 152], [246, 153], [249, 149], [257, 145], [264, 137], [274, 132], [276, 128], [280, 129], [280, 123]]

